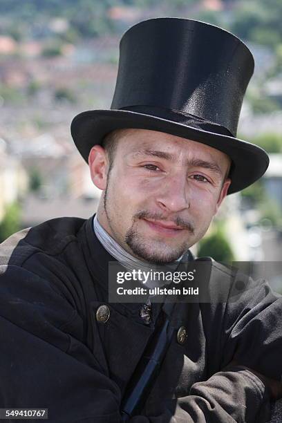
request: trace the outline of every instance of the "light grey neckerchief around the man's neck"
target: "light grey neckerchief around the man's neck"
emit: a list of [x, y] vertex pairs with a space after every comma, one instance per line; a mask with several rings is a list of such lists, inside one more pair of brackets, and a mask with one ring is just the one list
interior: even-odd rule
[[[109, 234], [105, 231], [104, 227], [100, 225], [97, 214], [95, 214], [95, 217], [93, 219], [93, 228], [94, 232], [100, 241], [100, 243], [103, 245], [104, 249], [111, 254], [118, 262], [126, 267], [126, 269], [132, 271], [133, 269], [142, 269], [142, 270], [150, 270], [152, 268], [151, 263], [147, 263], [144, 261], [141, 261], [139, 259], [136, 259], [136, 257], [129, 254], [124, 248], [120, 246]], [[182, 256], [172, 262], [167, 263], [167, 266], [171, 268], [171, 270], [176, 270], [176, 267], [178, 266], [177, 261], [180, 261], [182, 259]], [[162, 286], [164, 283], [158, 283], [158, 281], [148, 281], [147, 285], [149, 288], [153, 288], [154, 286]]]

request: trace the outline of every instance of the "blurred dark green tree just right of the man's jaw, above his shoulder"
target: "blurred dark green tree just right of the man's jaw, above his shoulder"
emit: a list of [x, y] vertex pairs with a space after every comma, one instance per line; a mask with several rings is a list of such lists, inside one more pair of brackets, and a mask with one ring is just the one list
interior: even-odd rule
[[229, 263], [234, 261], [232, 248], [227, 241], [227, 237], [222, 227], [218, 225], [214, 231], [205, 236], [198, 245], [198, 257], [210, 256], [216, 261]]

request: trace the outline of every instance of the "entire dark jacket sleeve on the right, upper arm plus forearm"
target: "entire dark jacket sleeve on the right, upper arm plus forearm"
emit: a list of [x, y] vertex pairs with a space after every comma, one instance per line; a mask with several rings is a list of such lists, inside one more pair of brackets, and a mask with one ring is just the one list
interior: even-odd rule
[[[243, 281], [242, 275], [238, 277]], [[265, 423], [270, 420], [270, 390], [247, 368], [281, 381], [282, 297], [264, 280], [248, 279], [241, 292], [236, 290], [237, 282], [238, 278], [225, 308], [220, 304], [215, 307], [223, 310], [221, 371], [191, 386], [188, 396], [164, 404], [162, 415], [136, 420], [136, 423]], [[229, 364], [231, 361], [238, 365]]]

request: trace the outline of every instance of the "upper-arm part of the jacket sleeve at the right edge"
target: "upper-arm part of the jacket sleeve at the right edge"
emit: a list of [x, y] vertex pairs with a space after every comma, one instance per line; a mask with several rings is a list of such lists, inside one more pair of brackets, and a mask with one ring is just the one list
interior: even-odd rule
[[225, 309], [222, 350], [225, 362], [252, 368], [281, 381], [282, 297], [267, 281], [248, 279], [236, 301]]

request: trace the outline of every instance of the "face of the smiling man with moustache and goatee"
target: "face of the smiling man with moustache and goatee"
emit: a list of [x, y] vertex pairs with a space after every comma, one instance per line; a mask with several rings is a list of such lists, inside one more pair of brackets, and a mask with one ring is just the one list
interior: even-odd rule
[[[100, 169], [106, 186], [98, 220], [138, 259], [175, 261], [207, 232], [230, 184], [225, 180], [230, 160], [167, 133], [124, 129], [119, 135], [111, 171]], [[102, 147], [98, 151], [102, 160]], [[97, 153], [92, 157], [97, 160]], [[94, 162], [90, 155], [95, 182]]]

